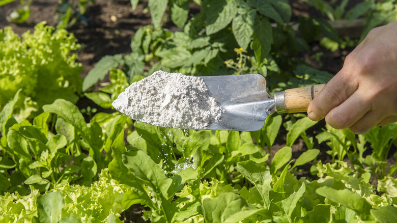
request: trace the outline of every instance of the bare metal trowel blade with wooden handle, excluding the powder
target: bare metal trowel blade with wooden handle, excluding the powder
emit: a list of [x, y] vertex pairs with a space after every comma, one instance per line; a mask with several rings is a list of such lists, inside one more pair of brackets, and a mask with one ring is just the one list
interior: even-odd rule
[[214, 130], [256, 131], [263, 128], [265, 119], [277, 113], [307, 111], [310, 101], [325, 84], [288, 89], [276, 92], [274, 97], [266, 91], [266, 80], [260, 74], [232, 76], [201, 76], [210, 96], [224, 109]]

